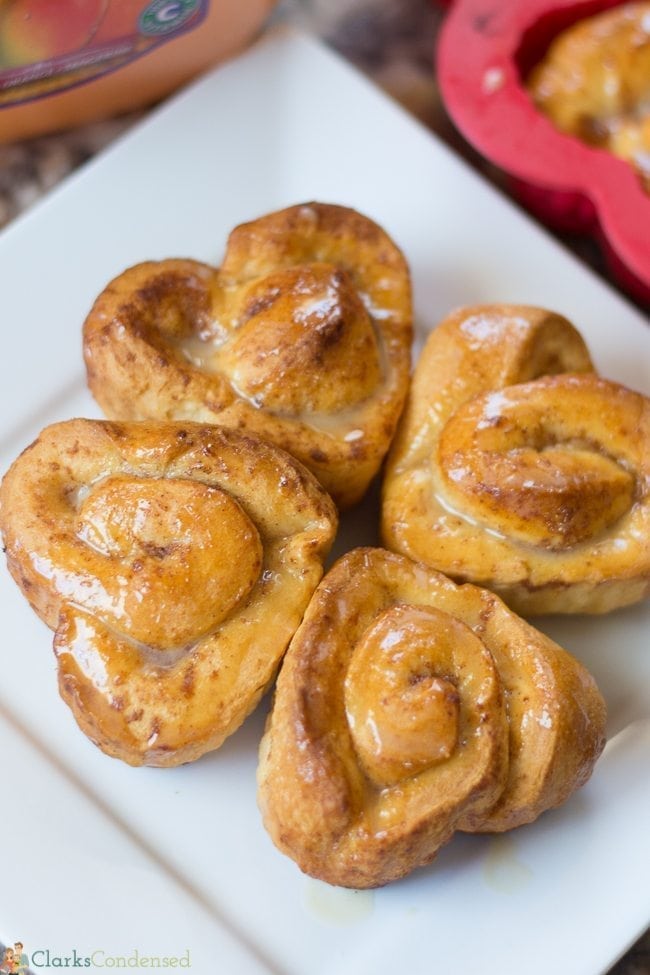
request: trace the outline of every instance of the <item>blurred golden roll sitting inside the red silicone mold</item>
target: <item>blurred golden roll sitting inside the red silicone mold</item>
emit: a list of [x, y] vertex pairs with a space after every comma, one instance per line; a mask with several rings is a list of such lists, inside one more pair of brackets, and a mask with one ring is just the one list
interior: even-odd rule
[[650, 3], [624, 3], [563, 31], [528, 88], [562, 132], [632, 163], [650, 192]]

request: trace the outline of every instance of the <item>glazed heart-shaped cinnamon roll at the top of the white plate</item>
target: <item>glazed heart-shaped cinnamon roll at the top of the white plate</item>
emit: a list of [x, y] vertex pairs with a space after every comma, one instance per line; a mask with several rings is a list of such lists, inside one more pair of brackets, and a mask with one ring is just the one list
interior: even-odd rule
[[122, 419], [251, 431], [358, 501], [406, 396], [411, 295], [384, 231], [309, 203], [236, 227], [217, 270], [148, 262], [102, 292], [84, 326], [88, 384]]

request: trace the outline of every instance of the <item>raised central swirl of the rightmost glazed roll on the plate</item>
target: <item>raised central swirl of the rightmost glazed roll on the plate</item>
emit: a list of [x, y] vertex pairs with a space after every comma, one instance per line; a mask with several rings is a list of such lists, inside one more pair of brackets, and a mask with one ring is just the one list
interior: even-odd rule
[[548, 376], [478, 396], [440, 436], [445, 495], [531, 545], [564, 549], [592, 539], [634, 500], [638, 449], [620, 433], [629, 433], [624, 416], [635, 405], [634, 394], [590, 375]]

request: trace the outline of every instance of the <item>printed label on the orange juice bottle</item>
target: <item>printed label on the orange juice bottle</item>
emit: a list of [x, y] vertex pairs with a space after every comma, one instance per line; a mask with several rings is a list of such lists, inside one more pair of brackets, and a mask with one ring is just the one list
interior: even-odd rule
[[0, 108], [57, 95], [194, 30], [209, 0], [0, 2]]

